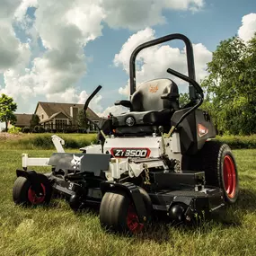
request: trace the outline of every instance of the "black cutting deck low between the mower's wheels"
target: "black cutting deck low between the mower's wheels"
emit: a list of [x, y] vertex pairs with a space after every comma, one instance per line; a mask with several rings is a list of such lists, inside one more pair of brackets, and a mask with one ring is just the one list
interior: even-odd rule
[[[154, 179], [154, 184], [157, 184], [154, 188], [151, 188], [151, 191], [147, 191], [155, 212], [165, 212], [167, 216], [179, 219], [181, 217], [173, 216], [173, 213], [170, 214], [172, 207], [179, 205], [186, 208], [186, 212], [182, 213], [182, 218], [190, 220], [195, 215], [207, 216], [216, 209], [225, 206], [221, 189], [199, 185], [199, 181], [204, 180], [204, 172], [152, 172], [150, 174]], [[52, 173], [46, 173], [45, 175], [52, 183], [56, 194], [64, 196], [73, 204], [71, 207], [75, 210], [92, 203], [101, 204], [103, 195], [101, 190], [102, 179], [100, 177], [95, 177], [88, 172], [82, 187], [81, 184], [77, 183], [77, 179], [76, 181], [65, 181]], [[74, 203], [74, 199], [77, 199], [77, 202]]]

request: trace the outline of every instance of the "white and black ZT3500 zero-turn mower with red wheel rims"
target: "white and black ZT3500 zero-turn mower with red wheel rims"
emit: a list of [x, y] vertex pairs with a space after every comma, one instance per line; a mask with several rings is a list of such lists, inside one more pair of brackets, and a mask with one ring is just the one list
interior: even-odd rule
[[[190, 102], [181, 107], [179, 89], [171, 79], [161, 78], [136, 85], [136, 57], [154, 45], [182, 40], [186, 46], [188, 76], [167, 72], [189, 83]], [[53, 193], [63, 195], [75, 210], [90, 203], [100, 205], [101, 225], [113, 231], [137, 233], [155, 212], [174, 221], [234, 204], [239, 180], [234, 155], [216, 141], [216, 130], [199, 106], [204, 93], [195, 80], [193, 49], [182, 34], [171, 34], [143, 43], [130, 57], [130, 100], [115, 102], [128, 109], [110, 115], [99, 128], [98, 144], [66, 153], [64, 141], [49, 158], [22, 156], [13, 186], [16, 204], [49, 203]], [[84, 104], [87, 109], [98, 86]], [[49, 173], [28, 166], [51, 166]]]

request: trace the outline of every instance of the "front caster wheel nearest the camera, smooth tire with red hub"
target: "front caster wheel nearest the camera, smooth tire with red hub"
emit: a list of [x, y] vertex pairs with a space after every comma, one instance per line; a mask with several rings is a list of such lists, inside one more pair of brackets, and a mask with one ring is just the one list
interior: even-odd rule
[[132, 200], [124, 191], [106, 192], [100, 207], [102, 227], [119, 233], [137, 234], [144, 225], [139, 223]]

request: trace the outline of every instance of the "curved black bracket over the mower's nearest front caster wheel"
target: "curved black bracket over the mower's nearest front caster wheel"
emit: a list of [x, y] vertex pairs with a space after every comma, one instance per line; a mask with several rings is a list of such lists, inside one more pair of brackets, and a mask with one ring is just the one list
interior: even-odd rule
[[150, 215], [148, 209], [152, 208], [152, 202], [146, 193], [146, 190], [143, 190], [130, 182], [115, 183], [113, 181], [102, 181], [101, 190], [102, 197], [109, 191], [124, 191], [128, 197], [132, 199], [139, 221], [141, 223], [145, 223], [147, 221], [147, 218]]

